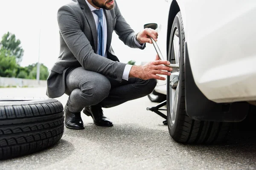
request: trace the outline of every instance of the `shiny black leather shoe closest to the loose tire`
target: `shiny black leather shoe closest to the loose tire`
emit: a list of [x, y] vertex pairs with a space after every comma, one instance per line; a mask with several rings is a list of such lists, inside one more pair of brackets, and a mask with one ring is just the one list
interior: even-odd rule
[[84, 129], [84, 123], [81, 119], [81, 113], [73, 113], [69, 111], [67, 105], [64, 108], [64, 125], [69, 129]]

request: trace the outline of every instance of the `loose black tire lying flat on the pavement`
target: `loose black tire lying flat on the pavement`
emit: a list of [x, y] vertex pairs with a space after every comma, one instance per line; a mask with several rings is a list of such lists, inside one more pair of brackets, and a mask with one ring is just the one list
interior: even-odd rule
[[56, 144], [63, 135], [63, 105], [55, 99], [0, 99], [0, 160]]

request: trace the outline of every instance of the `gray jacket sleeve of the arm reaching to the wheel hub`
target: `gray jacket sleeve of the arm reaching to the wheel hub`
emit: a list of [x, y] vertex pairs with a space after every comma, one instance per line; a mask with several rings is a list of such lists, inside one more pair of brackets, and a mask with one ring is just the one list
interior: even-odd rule
[[61, 36], [85, 70], [98, 72], [117, 81], [122, 81], [126, 64], [114, 62], [94, 53], [89, 40], [81, 30], [79, 17], [70, 6], [62, 6], [58, 10], [57, 19]]

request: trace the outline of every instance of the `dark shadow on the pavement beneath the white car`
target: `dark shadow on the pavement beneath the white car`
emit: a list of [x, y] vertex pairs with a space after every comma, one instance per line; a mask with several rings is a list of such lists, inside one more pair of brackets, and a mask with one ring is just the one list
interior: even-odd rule
[[186, 148], [191, 156], [200, 155], [203, 160], [222, 160], [233, 164], [241, 164], [256, 168], [256, 131], [234, 130], [227, 142], [218, 145], [188, 145]]

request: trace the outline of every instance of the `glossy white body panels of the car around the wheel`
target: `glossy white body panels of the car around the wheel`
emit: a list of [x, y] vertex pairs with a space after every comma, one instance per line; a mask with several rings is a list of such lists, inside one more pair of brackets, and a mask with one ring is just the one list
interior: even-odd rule
[[[168, 13], [171, 3], [168, 0], [164, 6]], [[177, 3], [183, 17], [192, 74], [200, 91], [214, 102], [256, 100], [256, 1], [177, 0]], [[168, 36], [166, 11], [161, 14], [161, 21], [159, 39]], [[162, 40], [165, 42], [158, 40], [158, 46], [166, 54], [163, 51], [167, 38]], [[164, 89], [166, 84], [160, 82], [156, 91], [166, 94]]]

